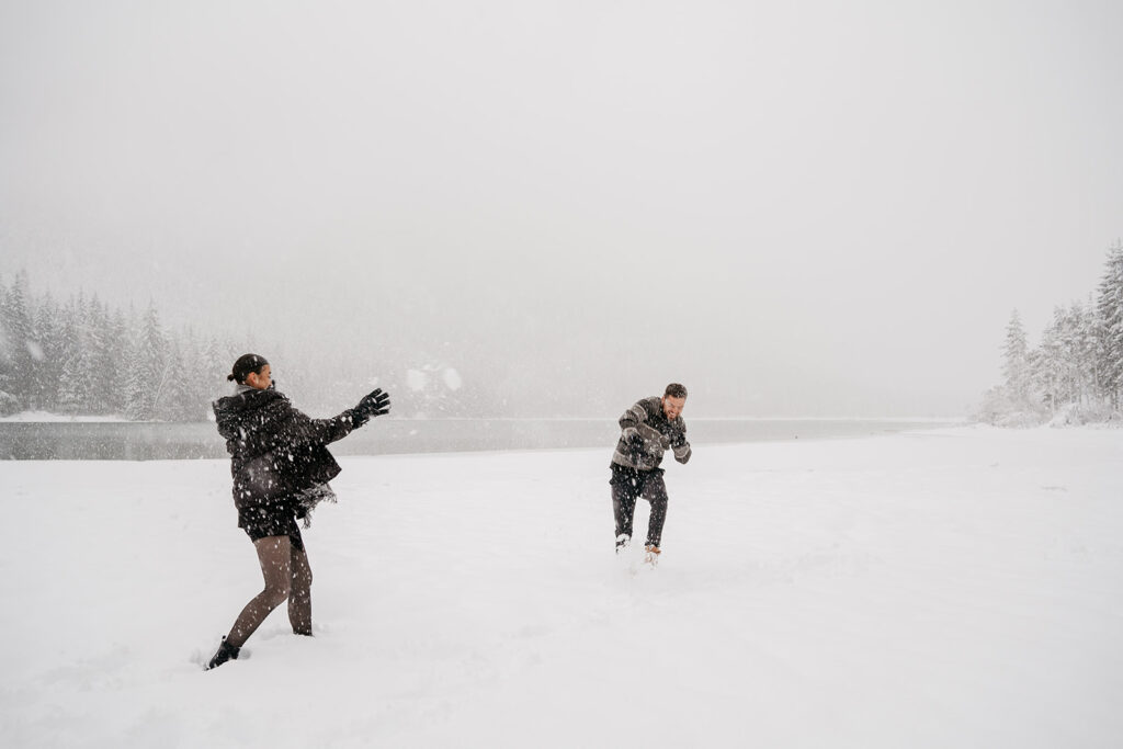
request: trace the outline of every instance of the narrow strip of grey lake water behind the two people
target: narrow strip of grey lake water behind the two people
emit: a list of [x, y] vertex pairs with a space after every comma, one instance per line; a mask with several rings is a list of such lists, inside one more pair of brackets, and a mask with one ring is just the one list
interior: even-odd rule
[[[694, 445], [864, 437], [948, 426], [939, 421], [687, 419]], [[614, 419], [375, 419], [331, 446], [336, 455], [603, 448]], [[213, 423], [0, 422], [0, 459], [166, 460], [225, 458]]]

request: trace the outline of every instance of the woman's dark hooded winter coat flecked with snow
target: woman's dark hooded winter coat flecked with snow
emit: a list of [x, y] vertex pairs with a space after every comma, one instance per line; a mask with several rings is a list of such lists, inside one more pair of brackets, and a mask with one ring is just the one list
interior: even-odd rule
[[317, 490], [339, 475], [339, 464], [326, 446], [355, 428], [350, 409], [331, 419], [312, 419], [275, 390], [245, 390], [220, 398], [212, 408], [230, 454], [239, 511], [291, 501], [302, 517], [301, 497], [322, 494]]

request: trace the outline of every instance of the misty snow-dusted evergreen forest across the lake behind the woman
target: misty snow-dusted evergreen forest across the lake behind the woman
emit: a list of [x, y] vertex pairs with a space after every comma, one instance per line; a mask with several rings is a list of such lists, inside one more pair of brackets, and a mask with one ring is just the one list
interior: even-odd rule
[[292, 348], [167, 326], [150, 302], [137, 310], [97, 294], [65, 301], [34, 294], [22, 271], [10, 283], [0, 278], [0, 417], [45, 411], [203, 421], [211, 401], [230, 392], [226, 375], [246, 351], [267, 355], [274, 373], [282, 372], [282, 390], [312, 415], [353, 405], [348, 399], [357, 402], [374, 384], [392, 393], [394, 413], [403, 417], [480, 417], [494, 400], [439, 355], [386, 350], [372, 363], [316, 350], [289, 356]]

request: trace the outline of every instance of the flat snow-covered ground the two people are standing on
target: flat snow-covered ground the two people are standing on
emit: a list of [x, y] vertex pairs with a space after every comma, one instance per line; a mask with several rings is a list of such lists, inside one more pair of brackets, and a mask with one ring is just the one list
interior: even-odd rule
[[228, 465], [2, 463], [0, 746], [1120, 746], [1123, 431], [699, 445], [634, 575], [608, 460], [341, 458], [317, 637], [210, 673]]

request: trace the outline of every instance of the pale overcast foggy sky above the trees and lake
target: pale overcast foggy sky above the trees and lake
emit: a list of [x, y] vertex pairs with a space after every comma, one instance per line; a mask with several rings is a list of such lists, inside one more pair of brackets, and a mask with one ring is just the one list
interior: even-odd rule
[[0, 274], [522, 398], [965, 413], [1123, 235], [1121, 9], [4, 0]]

